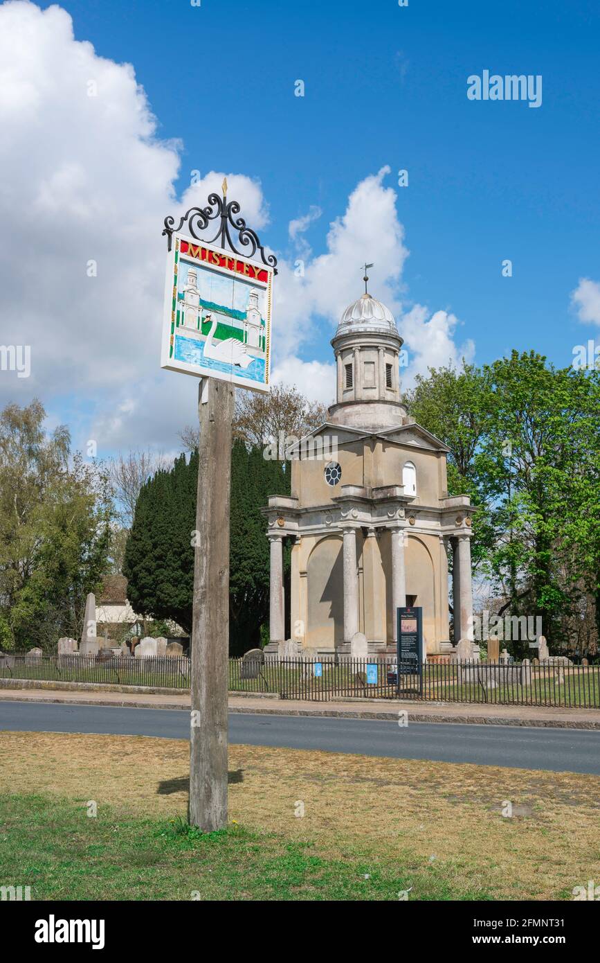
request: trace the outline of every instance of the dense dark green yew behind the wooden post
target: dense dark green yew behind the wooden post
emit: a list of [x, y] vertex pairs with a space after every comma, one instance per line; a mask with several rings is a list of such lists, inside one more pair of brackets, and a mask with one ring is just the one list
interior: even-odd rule
[[[141, 488], [123, 573], [136, 612], [191, 632], [198, 453], [181, 455]], [[268, 613], [269, 545], [261, 508], [289, 492], [289, 471], [258, 446], [235, 441], [230, 529], [230, 652], [259, 647]]]

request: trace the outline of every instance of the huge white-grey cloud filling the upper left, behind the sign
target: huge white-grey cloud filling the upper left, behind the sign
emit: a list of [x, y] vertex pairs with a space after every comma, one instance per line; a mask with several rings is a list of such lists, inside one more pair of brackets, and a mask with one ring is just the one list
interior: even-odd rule
[[[77, 398], [99, 451], [169, 444], [193, 417], [196, 385], [159, 368], [162, 220], [205, 206], [224, 174], [206, 172], [177, 201], [180, 145], [158, 139], [133, 67], [76, 41], [59, 7], [0, 6], [0, 75], [0, 340], [30, 345], [32, 359], [27, 379], [2, 373], [0, 403]], [[260, 185], [227, 179], [263, 227]]]

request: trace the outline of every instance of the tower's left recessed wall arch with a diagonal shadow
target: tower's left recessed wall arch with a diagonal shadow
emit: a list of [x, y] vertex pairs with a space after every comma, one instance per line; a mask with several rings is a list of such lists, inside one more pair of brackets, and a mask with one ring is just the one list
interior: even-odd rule
[[334, 649], [343, 642], [343, 559], [341, 535], [320, 538], [307, 561], [307, 641], [310, 648]]

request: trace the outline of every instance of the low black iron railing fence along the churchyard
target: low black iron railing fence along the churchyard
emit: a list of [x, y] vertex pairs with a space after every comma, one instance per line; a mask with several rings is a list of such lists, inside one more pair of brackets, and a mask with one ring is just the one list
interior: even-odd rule
[[[114, 683], [189, 689], [186, 656], [135, 658], [68, 654], [0, 656], [0, 679]], [[273, 693], [284, 699], [410, 699], [498, 705], [600, 708], [600, 665], [429, 662], [420, 673], [393, 657], [297, 657], [229, 660], [229, 690]]]

